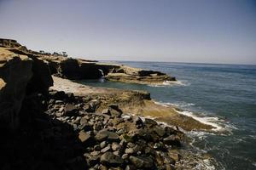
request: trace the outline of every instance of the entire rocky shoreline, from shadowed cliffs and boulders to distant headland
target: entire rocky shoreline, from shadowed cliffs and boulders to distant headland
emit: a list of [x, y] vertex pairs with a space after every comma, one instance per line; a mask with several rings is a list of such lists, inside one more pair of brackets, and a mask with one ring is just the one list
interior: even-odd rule
[[105, 76], [158, 84], [175, 77], [40, 54], [15, 40], [0, 45], [1, 169], [183, 169], [179, 128], [213, 128], [154, 104], [147, 92], [73, 82]]

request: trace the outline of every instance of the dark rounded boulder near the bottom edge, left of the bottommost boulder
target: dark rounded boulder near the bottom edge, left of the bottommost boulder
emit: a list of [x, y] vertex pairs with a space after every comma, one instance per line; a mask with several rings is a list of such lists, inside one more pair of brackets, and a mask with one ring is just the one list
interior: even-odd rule
[[106, 152], [101, 156], [101, 163], [106, 166], [117, 167], [122, 165], [123, 162], [120, 156], [116, 156], [112, 152]]

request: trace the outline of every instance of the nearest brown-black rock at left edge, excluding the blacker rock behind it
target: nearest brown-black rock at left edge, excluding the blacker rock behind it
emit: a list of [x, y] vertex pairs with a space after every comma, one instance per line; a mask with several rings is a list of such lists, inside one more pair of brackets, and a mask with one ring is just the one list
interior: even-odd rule
[[[32, 59], [5, 50], [0, 53], [0, 124], [1, 128], [19, 126], [19, 111], [32, 78]], [[3, 53], [4, 52], [4, 53]]]

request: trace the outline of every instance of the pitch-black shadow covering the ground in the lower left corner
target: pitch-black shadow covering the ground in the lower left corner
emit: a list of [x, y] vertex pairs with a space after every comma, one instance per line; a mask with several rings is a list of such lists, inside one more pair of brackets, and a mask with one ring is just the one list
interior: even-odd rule
[[87, 169], [79, 133], [45, 114], [45, 104], [43, 95], [26, 97], [20, 129], [1, 133], [0, 169]]

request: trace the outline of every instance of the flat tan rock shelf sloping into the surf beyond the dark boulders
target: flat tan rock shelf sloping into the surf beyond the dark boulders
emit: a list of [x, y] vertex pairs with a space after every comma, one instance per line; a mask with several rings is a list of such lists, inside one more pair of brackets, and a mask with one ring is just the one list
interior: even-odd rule
[[151, 99], [143, 99], [143, 95], [148, 95], [143, 91], [93, 88], [59, 77], [53, 77], [53, 80], [54, 86], [50, 89], [65, 91], [66, 93], [73, 93], [79, 96], [90, 96], [93, 99], [102, 99], [103, 104], [99, 106], [98, 111], [106, 109], [106, 105], [116, 103], [125, 112], [130, 112], [138, 116], [151, 116], [157, 121], [182, 127], [184, 130], [203, 130], [210, 132], [214, 129], [212, 125], [196, 121], [191, 116], [183, 116], [176, 111], [177, 108], [155, 104]]

